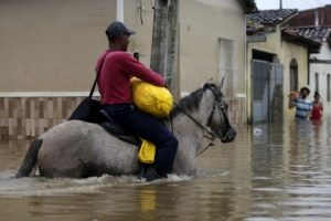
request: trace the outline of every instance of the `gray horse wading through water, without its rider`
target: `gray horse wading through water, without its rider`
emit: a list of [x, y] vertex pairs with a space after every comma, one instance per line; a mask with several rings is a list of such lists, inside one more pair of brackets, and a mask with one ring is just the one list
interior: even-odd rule
[[[183, 97], [163, 119], [179, 140], [173, 172], [189, 176], [195, 172], [196, 152], [205, 133], [222, 143], [234, 140], [236, 131], [227, 117], [222, 84], [223, 81], [220, 85], [205, 83]], [[36, 165], [40, 176], [47, 178], [138, 175], [141, 167], [138, 151], [138, 146], [109, 135], [97, 124], [70, 120], [32, 143], [15, 177], [30, 176]]]

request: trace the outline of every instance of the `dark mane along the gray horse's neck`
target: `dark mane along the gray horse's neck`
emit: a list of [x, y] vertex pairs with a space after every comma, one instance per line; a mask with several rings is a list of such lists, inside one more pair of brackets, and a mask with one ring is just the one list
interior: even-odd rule
[[190, 95], [184, 96], [180, 99], [178, 105], [174, 105], [174, 107], [171, 109], [170, 117], [175, 117], [179, 115], [179, 113], [182, 112], [182, 109], [191, 112], [199, 108], [200, 101], [202, 98], [202, 95], [205, 93], [205, 91], [212, 90], [215, 96], [218, 96], [220, 99], [223, 97], [223, 93], [216, 86], [214, 83], [205, 83], [202, 88], [196, 90], [195, 92], [192, 92]]

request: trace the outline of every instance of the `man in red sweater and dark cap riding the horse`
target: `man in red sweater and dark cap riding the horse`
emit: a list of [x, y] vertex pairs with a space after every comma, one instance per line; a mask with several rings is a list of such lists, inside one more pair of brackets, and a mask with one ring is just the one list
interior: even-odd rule
[[106, 30], [108, 49], [98, 57], [95, 71], [97, 73], [104, 61], [97, 81], [103, 109], [129, 133], [157, 147], [154, 164], [142, 176], [147, 181], [152, 181], [171, 173], [179, 143], [161, 120], [134, 105], [130, 87], [132, 76], [156, 86], [166, 87], [167, 84], [160, 74], [127, 53], [131, 34], [136, 34], [136, 31], [129, 30], [122, 22], [109, 24]]

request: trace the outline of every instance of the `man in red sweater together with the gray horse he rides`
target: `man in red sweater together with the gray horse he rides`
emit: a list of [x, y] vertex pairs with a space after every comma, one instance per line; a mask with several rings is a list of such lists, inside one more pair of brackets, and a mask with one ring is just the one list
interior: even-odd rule
[[204, 137], [210, 138], [211, 144], [214, 138], [224, 144], [235, 139], [236, 130], [231, 124], [228, 104], [222, 93], [224, 78], [218, 85], [210, 81], [182, 97], [171, 109], [171, 117], [160, 122], [132, 104], [130, 77], [135, 75], [145, 82], [166, 86], [163, 77], [126, 53], [128, 38], [135, 31], [114, 22], [106, 33], [109, 49], [100, 55], [96, 65], [96, 71], [103, 66], [98, 78], [102, 112], [111, 115], [131, 135], [153, 143], [157, 146], [154, 164], [142, 173], [145, 170], [141, 170], [143, 167], [137, 157], [137, 144], [109, 135], [102, 125], [67, 120], [33, 140], [15, 178], [33, 176], [35, 171], [46, 178], [136, 176], [140, 172], [140, 177], [148, 181], [170, 172], [193, 176]]

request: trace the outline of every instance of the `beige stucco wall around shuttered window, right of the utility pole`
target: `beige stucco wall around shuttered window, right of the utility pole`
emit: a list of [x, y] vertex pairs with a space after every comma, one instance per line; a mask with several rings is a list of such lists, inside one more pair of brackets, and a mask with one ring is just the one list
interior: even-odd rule
[[180, 80], [183, 93], [211, 77], [220, 81], [220, 38], [238, 43], [241, 81], [236, 94], [245, 94], [245, 15], [242, 6], [228, 0], [181, 1]]

